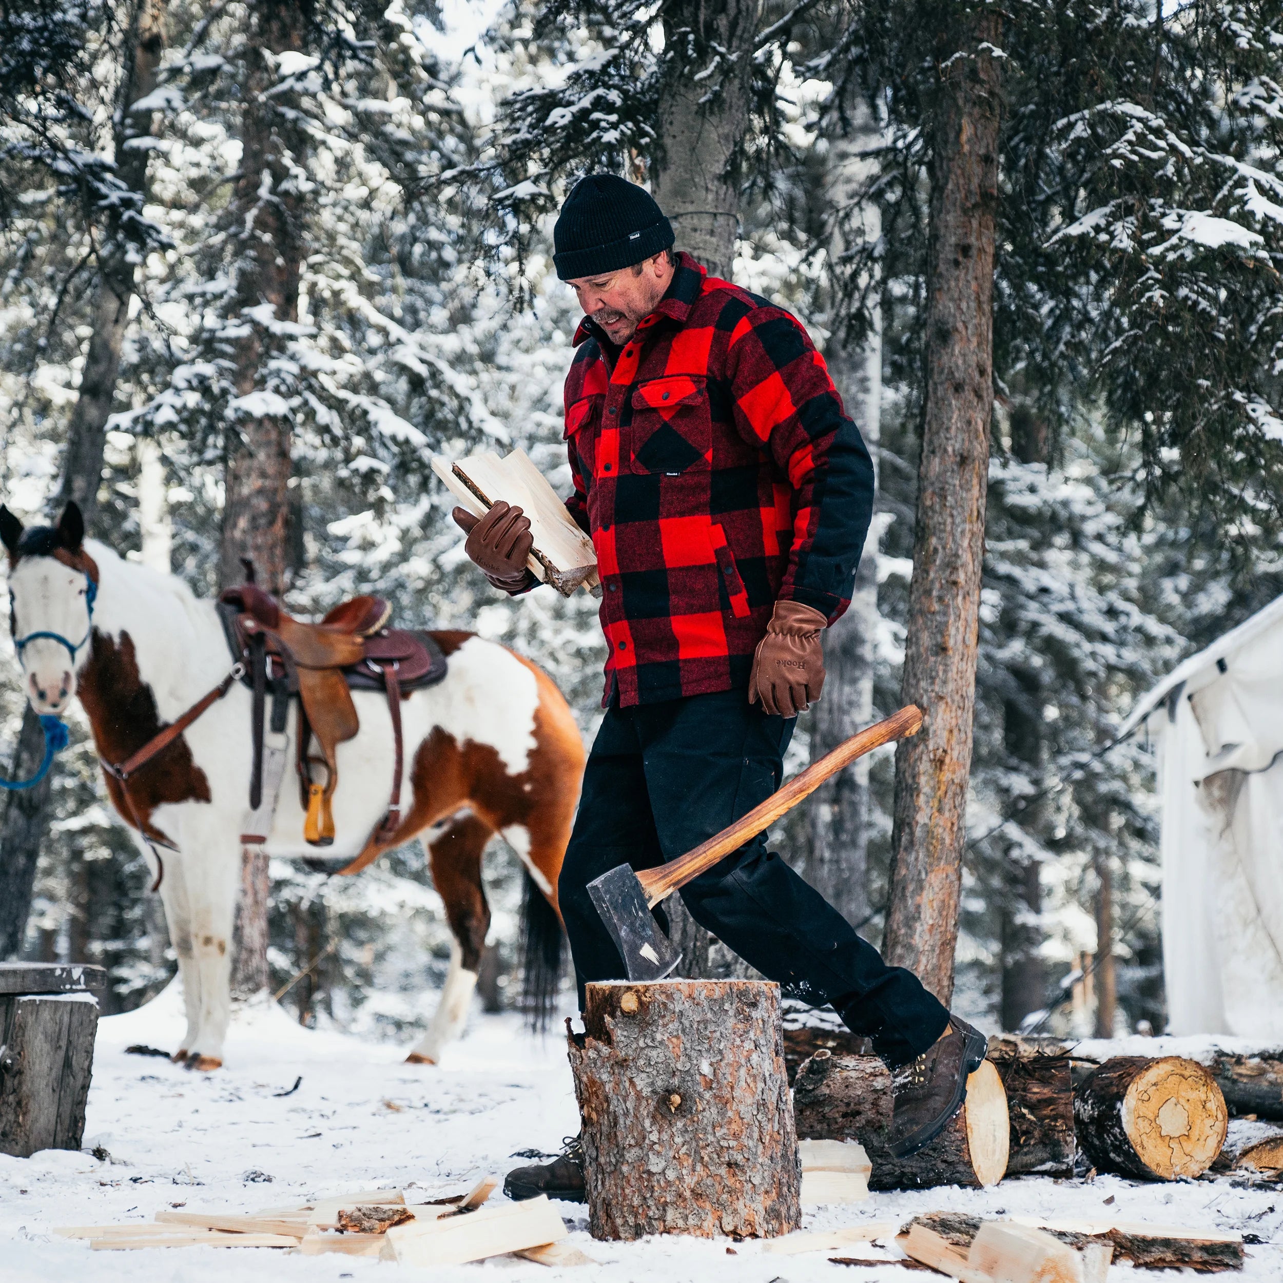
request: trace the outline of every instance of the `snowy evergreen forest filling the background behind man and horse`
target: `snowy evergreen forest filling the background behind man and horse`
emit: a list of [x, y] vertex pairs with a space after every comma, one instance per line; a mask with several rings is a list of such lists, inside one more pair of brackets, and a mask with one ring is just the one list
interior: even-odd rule
[[[266, 423], [289, 443], [294, 613], [376, 591], [404, 624], [475, 629], [543, 665], [590, 736], [595, 603], [493, 593], [429, 459], [521, 445], [567, 493], [577, 309], [550, 228], [579, 174], [613, 169], [681, 216], [679, 249], [803, 319], [874, 446], [876, 547], [795, 770], [843, 717], [899, 704], [951, 44], [983, 49], [1002, 108], [956, 1005], [988, 1028], [1161, 1032], [1153, 762], [1114, 736], [1283, 590], [1277, 5], [5, 0], [0, 495], [31, 521], [87, 493], [95, 535], [212, 594], [228, 468]], [[709, 103], [726, 141], [695, 191], [684, 130]], [[248, 182], [266, 110], [286, 146]], [[264, 208], [294, 255], [289, 318], [245, 295]], [[0, 745], [30, 774], [5, 652]], [[31, 912], [5, 884], [0, 953], [101, 962], [124, 1010], [174, 962], [78, 709], [71, 725]], [[893, 761], [848, 774], [776, 847], [876, 940]], [[33, 831], [12, 797], [6, 871]], [[518, 874], [497, 843], [491, 1007], [517, 990]], [[304, 1023], [425, 1024], [449, 933], [417, 845], [357, 879], [269, 875], [271, 988], [312, 965], [284, 999]]]

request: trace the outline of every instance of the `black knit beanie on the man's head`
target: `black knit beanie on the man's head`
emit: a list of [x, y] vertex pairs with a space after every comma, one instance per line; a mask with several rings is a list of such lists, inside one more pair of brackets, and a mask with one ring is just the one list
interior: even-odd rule
[[563, 281], [631, 267], [676, 237], [654, 198], [613, 173], [590, 173], [575, 183], [553, 228], [553, 263]]

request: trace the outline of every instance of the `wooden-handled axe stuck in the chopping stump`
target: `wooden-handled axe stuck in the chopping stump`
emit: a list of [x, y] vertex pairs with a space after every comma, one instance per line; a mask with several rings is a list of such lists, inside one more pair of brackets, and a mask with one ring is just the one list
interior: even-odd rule
[[807, 794], [813, 793], [830, 775], [837, 775], [857, 757], [883, 744], [916, 735], [922, 725], [922, 713], [907, 704], [898, 713], [865, 727], [858, 735], [840, 743], [819, 762], [812, 762], [801, 775], [794, 776], [779, 793], [772, 793], [748, 815], [722, 829], [694, 851], [670, 860], [658, 869], [636, 872], [631, 865], [620, 865], [609, 872], [594, 878], [588, 893], [602, 917], [602, 922], [615, 939], [615, 944], [627, 967], [630, 980], [662, 980], [680, 961], [681, 953], [672, 947], [663, 931], [656, 930], [650, 910], [680, 887], [712, 869], [724, 856], [756, 838], [769, 825], [790, 811]]

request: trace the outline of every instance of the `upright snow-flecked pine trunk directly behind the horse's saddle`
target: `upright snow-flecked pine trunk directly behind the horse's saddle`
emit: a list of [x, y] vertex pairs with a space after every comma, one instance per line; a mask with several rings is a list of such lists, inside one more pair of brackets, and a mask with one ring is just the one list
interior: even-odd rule
[[[244, 313], [271, 304], [276, 323], [299, 319], [299, 272], [303, 259], [303, 196], [291, 172], [307, 154], [296, 94], [268, 94], [276, 86], [275, 55], [302, 50], [307, 35], [303, 0], [255, 0], [245, 50], [245, 110], [241, 118], [240, 177], [232, 198], [231, 225], [239, 228], [232, 318], [244, 334], [232, 343], [239, 398], [266, 394], [227, 427], [223, 527], [219, 580], [242, 581], [242, 561], [257, 581], [280, 595], [287, 586], [290, 420], [269, 413], [268, 362], [280, 337], [273, 327]], [[232, 992], [248, 997], [267, 987], [267, 856], [242, 852], [240, 947], [232, 965]], [[253, 956], [249, 956], [253, 955]]]

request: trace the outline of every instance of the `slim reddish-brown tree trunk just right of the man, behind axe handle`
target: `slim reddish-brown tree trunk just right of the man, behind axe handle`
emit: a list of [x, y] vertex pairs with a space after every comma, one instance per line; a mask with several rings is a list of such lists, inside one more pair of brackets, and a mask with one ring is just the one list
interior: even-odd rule
[[[922, 453], [903, 702], [925, 715], [896, 753], [883, 952], [942, 1002], [953, 993], [993, 413], [993, 255], [1001, 17], [940, 42], [933, 109]], [[949, 30], [949, 36], [956, 35]]]

